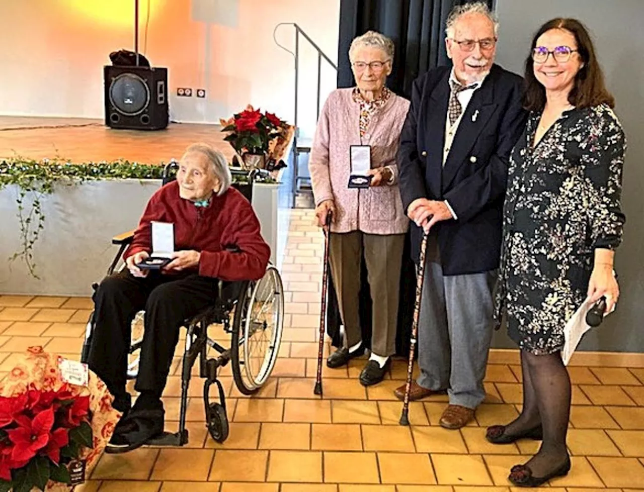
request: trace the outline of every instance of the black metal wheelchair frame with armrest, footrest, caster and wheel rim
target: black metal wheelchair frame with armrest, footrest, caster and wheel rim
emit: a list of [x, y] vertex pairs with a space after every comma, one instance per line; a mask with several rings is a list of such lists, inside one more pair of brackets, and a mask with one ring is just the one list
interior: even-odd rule
[[[171, 161], [166, 168], [164, 169], [164, 184], [172, 181], [173, 178], [169, 178], [169, 171], [176, 167], [176, 162]], [[246, 174], [246, 173], [244, 173]], [[254, 183], [254, 173], [251, 172], [249, 176], [249, 189], [245, 190], [245, 195], [252, 192], [252, 184]], [[243, 192], [243, 191], [242, 191]], [[247, 196], [248, 198], [248, 196]], [[129, 232], [117, 235], [112, 238], [112, 244], [117, 244], [119, 246], [118, 252], [115, 255], [113, 261], [111, 262], [107, 275], [112, 275], [117, 267], [118, 261], [122, 257], [124, 251], [131, 243], [134, 237], [134, 230]], [[250, 310], [252, 304], [247, 305], [247, 300], [249, 293], [254, 297], [258, 284], [261, 280], [257, 282], [240, 280], [238, 282], [230, 282], [234, 290], [237, 291], [237, 295], [234, 298], [223, 298], [224, 295], [224, 282], [219, 280], [218, 282], [218, 296], [214, 306], [205, 309], [202, 313], [197, 314], [190, 320], [187, 320], [185, 327], [187, 327], [187, 335], [185, 337], [185, 349], [181, 361], [181, 400], [180, 400], [180, 413], [179, 413], [179, 428], [177, 432], [164, 432], [161, 435], [149, 439], [146, 442], [147, 445], [151, 446], [184, 446], [188, 442], [188, 430], [185, 428], [185, 417], [187, 411], [187, 401], [188, 401], [188, 388], [190, 379], [192, 377], [192, 368], [197, 358], [199, 358], [199, 376], [200, 378], [205, 378], [204, 381], [204, 407], [205, 407], [205, 417], [206, 417], [206, 426], [208, 431], [216, 442], [223, 442], [227, 439], [229, 434], [229, 423], [226, 410], [226, 398], [225, 392], [221, 381], [217, 378], [217, 371], [220, 367], [224, 367], [233, 361], [236, 365], [237, 370], [233, 370], [234, 381], [236, 386], [243, 394], [253, 394], [263, 383], [270, 377], [270, 372], [277, 360], [279, 352], [279, 344], [281, 342], [281, 334], [283, 332], [283, 316], [284, 316], [284, 296], [283, 296], [283, 284], [281, 282], [281, 277], [279, 271], [272, 265], [269, 264], [267, 267], [267, 273], [265, 275], [274, 275], [274, 281], [276, 282], [277, 291], [273, 293], [274, 296], [278, 296], [279, 306], [278, 314], [276, 316], [276, 334], [274, 334], [274, 344], [270, 347], [272, 350], [272, 357], [269, 360], [269, 366], [267, 367], [265, 379], [261, 382], [260, 385], [255, 388], [249, 389], [245, 387], [243, 381], [241, 380], [241, 365], [244, 363], [240, 361], [238, 351], [240, 349], [240, 330], [243, 329], [243, 321], [245, 320], [244, 316], [249, 316], [247, 311]], [[263, 277], [263, 278], [266, 278]], [[92, 285], [93, 289], [97, 289], [99, 284], [95, 283]], [[251, 290], [252, 289], [252, 290]], [[238, 306], [242, 306], [243, 309], [236, 309]], [[234, 319], [231, 327], [231, 313], [234, 311]], [[231, 334], [231, 348], [225, 349], [215, 340], [211, 340], [207, 336], [207, 328], [213, 323], [223, 323], [223, 330], [225, 333]], [[247, 331], [246, 327], [246, 331]], [[88, 326], [85, 333], [85, 340], [82, 347], [81, 361], [86, 362], [89, 355], [91, 335], [93, 333], [93, 312], [90, 314], [90, 319], [88, 320]], [[247, 340], [244, 338], [244, 342], [247, 343]], [[236, 346], [232, 346], [232, 345]], [[141, 341], [138, 340], [137, 343], [131, 345], [129, 349], [129, 354], [137, 351], [140, 348]], [[211, 347], [219, 356], [214, 358], [208, 358], [207, 349]], [[233, 353], [235, 351], [235, 353]], [[234, 369], [234, 368], [233, 368]], [[128, 365], [128, 377], [132, 377], [131, 368]], [[211, 385], [215, 384], [219, 391], [219, 401], [220, 403], [211, 402], [209, 397], [209, 390]]]

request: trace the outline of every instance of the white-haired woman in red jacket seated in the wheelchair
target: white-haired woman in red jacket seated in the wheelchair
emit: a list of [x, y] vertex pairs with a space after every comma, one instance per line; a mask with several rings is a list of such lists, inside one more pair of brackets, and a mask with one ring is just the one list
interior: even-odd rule
[[[228, 315], [231, 309], [240, 309], [239, 305], [234, 307], [237, 298], [232, 302], [221, 298], [222, 290], [230, 292], [231, 287], [232, 290], [239, 287], [237, 291], [243, 291], [242, 295], [238, 295], [244, 304], [241, 306], [242, 310], [255, 311], [255, 314], [261, 311], [261, 306], [260, 309], [249, 307], [249, 302], [252, 304], [252, 299], [258, 300], [256, 281], [265, 280], [272, 268], [267, 269], [270, 248], [260, 235], [260, 223], [251, 204], [242, 193], [231, 187], [231, 181], [231, 172], [220, 152], [205, 144], [188, 147], [180, 160], [176, 181], [160, 188], [147, 203], [138, 228], [123, 255], [126, 268], [104, 278], [95, 291], [95, 310], [91, 317], [91, 337], [88, 338], [86, 347], [86, 361], [115, 397], [114, 407], [123, 412], [106, 448], [108, 453], [133, 450], [162, 435], [164, 406], [161, 395], [179, 340], [180, 328], [188, 327], [187, 320], [218, 306], [219, 314], [214, 315], [214, 318], [211, 316], [207, 321], [202, 319], [202, 329], [205, 331], [207, 323], [211, 322], [224, 323], [225, 328], [229, 328]], [[144, 269], [142, 264], [152, 252], [151, 224], [155, 221], [173, 224], [175, 251], [171, 254], [171, 260], [162, 268]], [[281, 280], [274, 271], [272, 284], [269, 286], [269, 291], [272, 292], [263, 295], [262, 301], [274, 300], [271, 296], [276, 293], [273, 285], [276, 283], [279, 284], [281, 295]], [[252, 291], [250, 294], [249, 288]], [[131, 325], [137, 313], [142, 310], [145, 311], [144, 333], [138, 344], [140, 359], [135, 385], [139, 395], [135, 405], [131, 406], [131, 395], [126, 391], [128, 356], [133, 350]], [[225, 365], [232, 358], [233, 363], [237, 364], [234, 368], [236, 371], [233, 372], [236, 373], [236, 383], [240, 386], [240, 367], [242, 371], [244, 369], [244, 362], [240, 362], [240, 357], [243, 359], [240, 352], [243, 352], [243, 345], [250, 343], [246, 337], [250, 338], [253, 334], [252, 329], [250, 333], [248, 329], [251, 320], [242, 318], [250, 318], [252, 315], [250, 312], [240, 313], [238, 320], [238, 314], [235, 313], [234, 328], [237, 333], [233, 334], [232, 345], [236, 346], [216, 361], [202, 360], [202, 376], [207, 372], [207, 362], [211, 362], [210, 382], [218, 383], [217, 367]], [[243, 330], [241, 325], [245, 321], [244, 335], [240, 330]], [[273, 334], [269, 340], [274, 351], [277, 350], [276, 345], [279, 345], [281, 320], [278, 320], [278, 324], [278, 336]], [[266, 324], [262, 325], [260, 322], [259, 326], [265, 328]], [[188, 338], [194, 342], [193, 334], [191, 331]], [[220, 345], [205, 338], [205, 334], [202, 340], [223, 351]], [[189, 357], [189, 345], [190, 342], [187, 341], [182, 376], [185, 385], [180, 423], [182, 428], [185, 423], [187, 379], [196, 359], [195, 354]], [[198, 350], [205, 355], [207, 347], [202, 345]], [[234, 352], [232, 356], [231, 352]], [[269, 365], [270, 372], [276, 356], [276, 353], [270, 354], [270, 357], [262, 356], [260, 365]], [[190, 360], [186, 362], [185, 358]], [[251, 362], [246, 361], [247, 365], [251, 365]], [[258, 381], [260, 384], [262, 382]], [[250, 393], [254, 387], [246, 383], [245, 389], [246, 393]], [[208, 417], [207, 387], [205, 392]], [[220, 395], [223, 399], [221, 386]], [[225, 405], [223, 401], [222, 403]], [[211, 404], [211, 407], [213, 405], [217, 404]], [[220, 415], [220, 419], [225, 420], [225, 406], [222, 408], [223, 415]], [[219, 422], [219, 425], [222, 424]], [[225, 435], [218, 434], [223, 439], [227, 435], [227, 422], [225, 426]], [[213, 430], [211, 435], [215, 437]], [[178, 444], [185, 444], [187, 432], [180, 440], [182, 442]]]

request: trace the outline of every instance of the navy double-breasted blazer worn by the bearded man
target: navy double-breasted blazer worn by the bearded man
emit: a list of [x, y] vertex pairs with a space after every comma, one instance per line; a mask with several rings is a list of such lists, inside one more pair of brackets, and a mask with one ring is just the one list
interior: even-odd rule
[[[417, 198], [447, 200], [457, 215], [435, 224], [444, 275], [498, 268], [510, 152], [526, 124], [523, 79], [493, 65], [473, 93], [442, 165], [451, 68], [417, 78], [401, 132], [399, 185], [404, 210]], [[412, 223], [412, 257], [422, 230]]]

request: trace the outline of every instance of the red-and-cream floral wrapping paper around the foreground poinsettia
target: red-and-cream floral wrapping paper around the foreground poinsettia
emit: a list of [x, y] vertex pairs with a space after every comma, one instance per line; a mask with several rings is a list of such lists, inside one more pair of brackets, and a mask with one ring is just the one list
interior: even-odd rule
[[[30, 347], [17, 361], [5, 379], [0, 382], [0, 396], [12, 397], [35, 390], [59, 390], [64, 383], [61, 378], [58, 354], [50, 354], [43, 347]], [[96, 466], [100, 454], [111, 438], [114, 426], [120, 418], [120, 412], [112, 406], [113, 396], [108, 391], [105, 383], [96, 374], [89, 371], [88, 386], [68, 385], [73, 396], [89, 396], [91, 411], [91, 430], [93, 435], [93, 448], [83, 448], [80, 459], [86, 462], [85, 478], [90, 477], [91, 471]], [[73, 489], [73, 486], [49, 482], [48, 491], [62, 492]]]

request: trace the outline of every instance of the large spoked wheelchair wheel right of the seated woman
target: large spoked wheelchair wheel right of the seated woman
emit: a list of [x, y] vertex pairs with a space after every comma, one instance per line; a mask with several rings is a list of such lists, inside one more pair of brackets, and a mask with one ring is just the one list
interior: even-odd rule
[[278, 269], [269, 265], [258, 282], [249, 284], [235, 309], [232, 327], [232, 376], [245, 395], [269, 378], [278, 357], [284, 324], [284, 295]]

